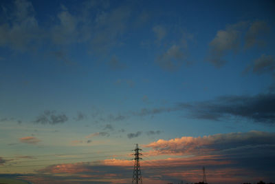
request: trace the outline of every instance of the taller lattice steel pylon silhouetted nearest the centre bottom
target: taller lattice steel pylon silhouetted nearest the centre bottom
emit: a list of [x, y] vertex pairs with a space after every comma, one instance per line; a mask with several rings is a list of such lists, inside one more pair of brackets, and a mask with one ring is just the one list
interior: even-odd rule
[[132, 178], [132, 184], [142, 184], [142, 171], [140, 170], [140, 153], [142, 149], [138, 147], [136, 144], [135, 150], [133, 150], [135, 153], [135, 165], [133, 165], [133, 178]]

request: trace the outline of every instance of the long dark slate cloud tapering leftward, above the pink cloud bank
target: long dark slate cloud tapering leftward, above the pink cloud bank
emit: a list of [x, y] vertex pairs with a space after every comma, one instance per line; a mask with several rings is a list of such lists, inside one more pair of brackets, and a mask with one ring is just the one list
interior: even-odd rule
[[275, 123], [275, 94], [228, 95], [218, 96], [209, 101], [192, 103], [176, 103], [173, 106], [159, 108], [142, 108], [124, 114], [111, 115], [108, 121], [123, 121], [133, 116], [155, 116], [157, 114], [182, 112], [192, 119], [208, 119], [214, 121], [245, 120], [265, 125]]

